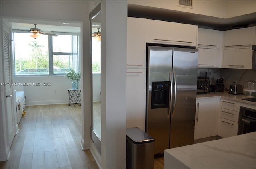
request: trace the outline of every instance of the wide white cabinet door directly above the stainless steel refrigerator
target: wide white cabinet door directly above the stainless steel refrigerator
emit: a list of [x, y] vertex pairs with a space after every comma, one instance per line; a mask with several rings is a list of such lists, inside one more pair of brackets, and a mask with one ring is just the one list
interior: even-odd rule
[[198, 26], [148, 20], [147, 42], [184, 46], [197, 46]]

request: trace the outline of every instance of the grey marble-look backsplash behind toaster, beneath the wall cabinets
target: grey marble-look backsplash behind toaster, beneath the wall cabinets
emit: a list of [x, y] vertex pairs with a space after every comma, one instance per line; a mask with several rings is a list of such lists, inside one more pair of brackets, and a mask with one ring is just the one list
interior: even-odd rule
[[224, 69], [224, 68], [198, 68], [200, 72], [210, 72], [210, 84], [215, 85], [217, 78], [224, 78], [224, 89], [228, 89], [233, 82], [244, 85], [244, 81], [256, 81], [256, 71], [249, 69]]

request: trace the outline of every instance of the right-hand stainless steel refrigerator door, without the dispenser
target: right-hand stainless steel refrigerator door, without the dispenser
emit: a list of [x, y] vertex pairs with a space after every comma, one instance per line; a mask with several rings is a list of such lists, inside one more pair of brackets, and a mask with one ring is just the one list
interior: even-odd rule
[[170, 148], [194, 143], [198, 49], [173, 49], [174, 102]]

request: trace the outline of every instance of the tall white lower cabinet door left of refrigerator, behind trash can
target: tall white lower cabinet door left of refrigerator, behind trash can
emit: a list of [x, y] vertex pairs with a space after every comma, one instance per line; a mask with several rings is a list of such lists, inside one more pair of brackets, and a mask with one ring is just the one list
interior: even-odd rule
[[146, 69], [127, 69], [126, 127], [145, 131]]

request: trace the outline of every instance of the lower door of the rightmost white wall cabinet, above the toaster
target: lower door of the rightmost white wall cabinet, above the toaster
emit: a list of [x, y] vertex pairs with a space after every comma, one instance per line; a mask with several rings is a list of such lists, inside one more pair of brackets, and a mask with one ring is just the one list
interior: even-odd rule
[[222, 67], [252, 69], [252, 48], [224, 49]]

